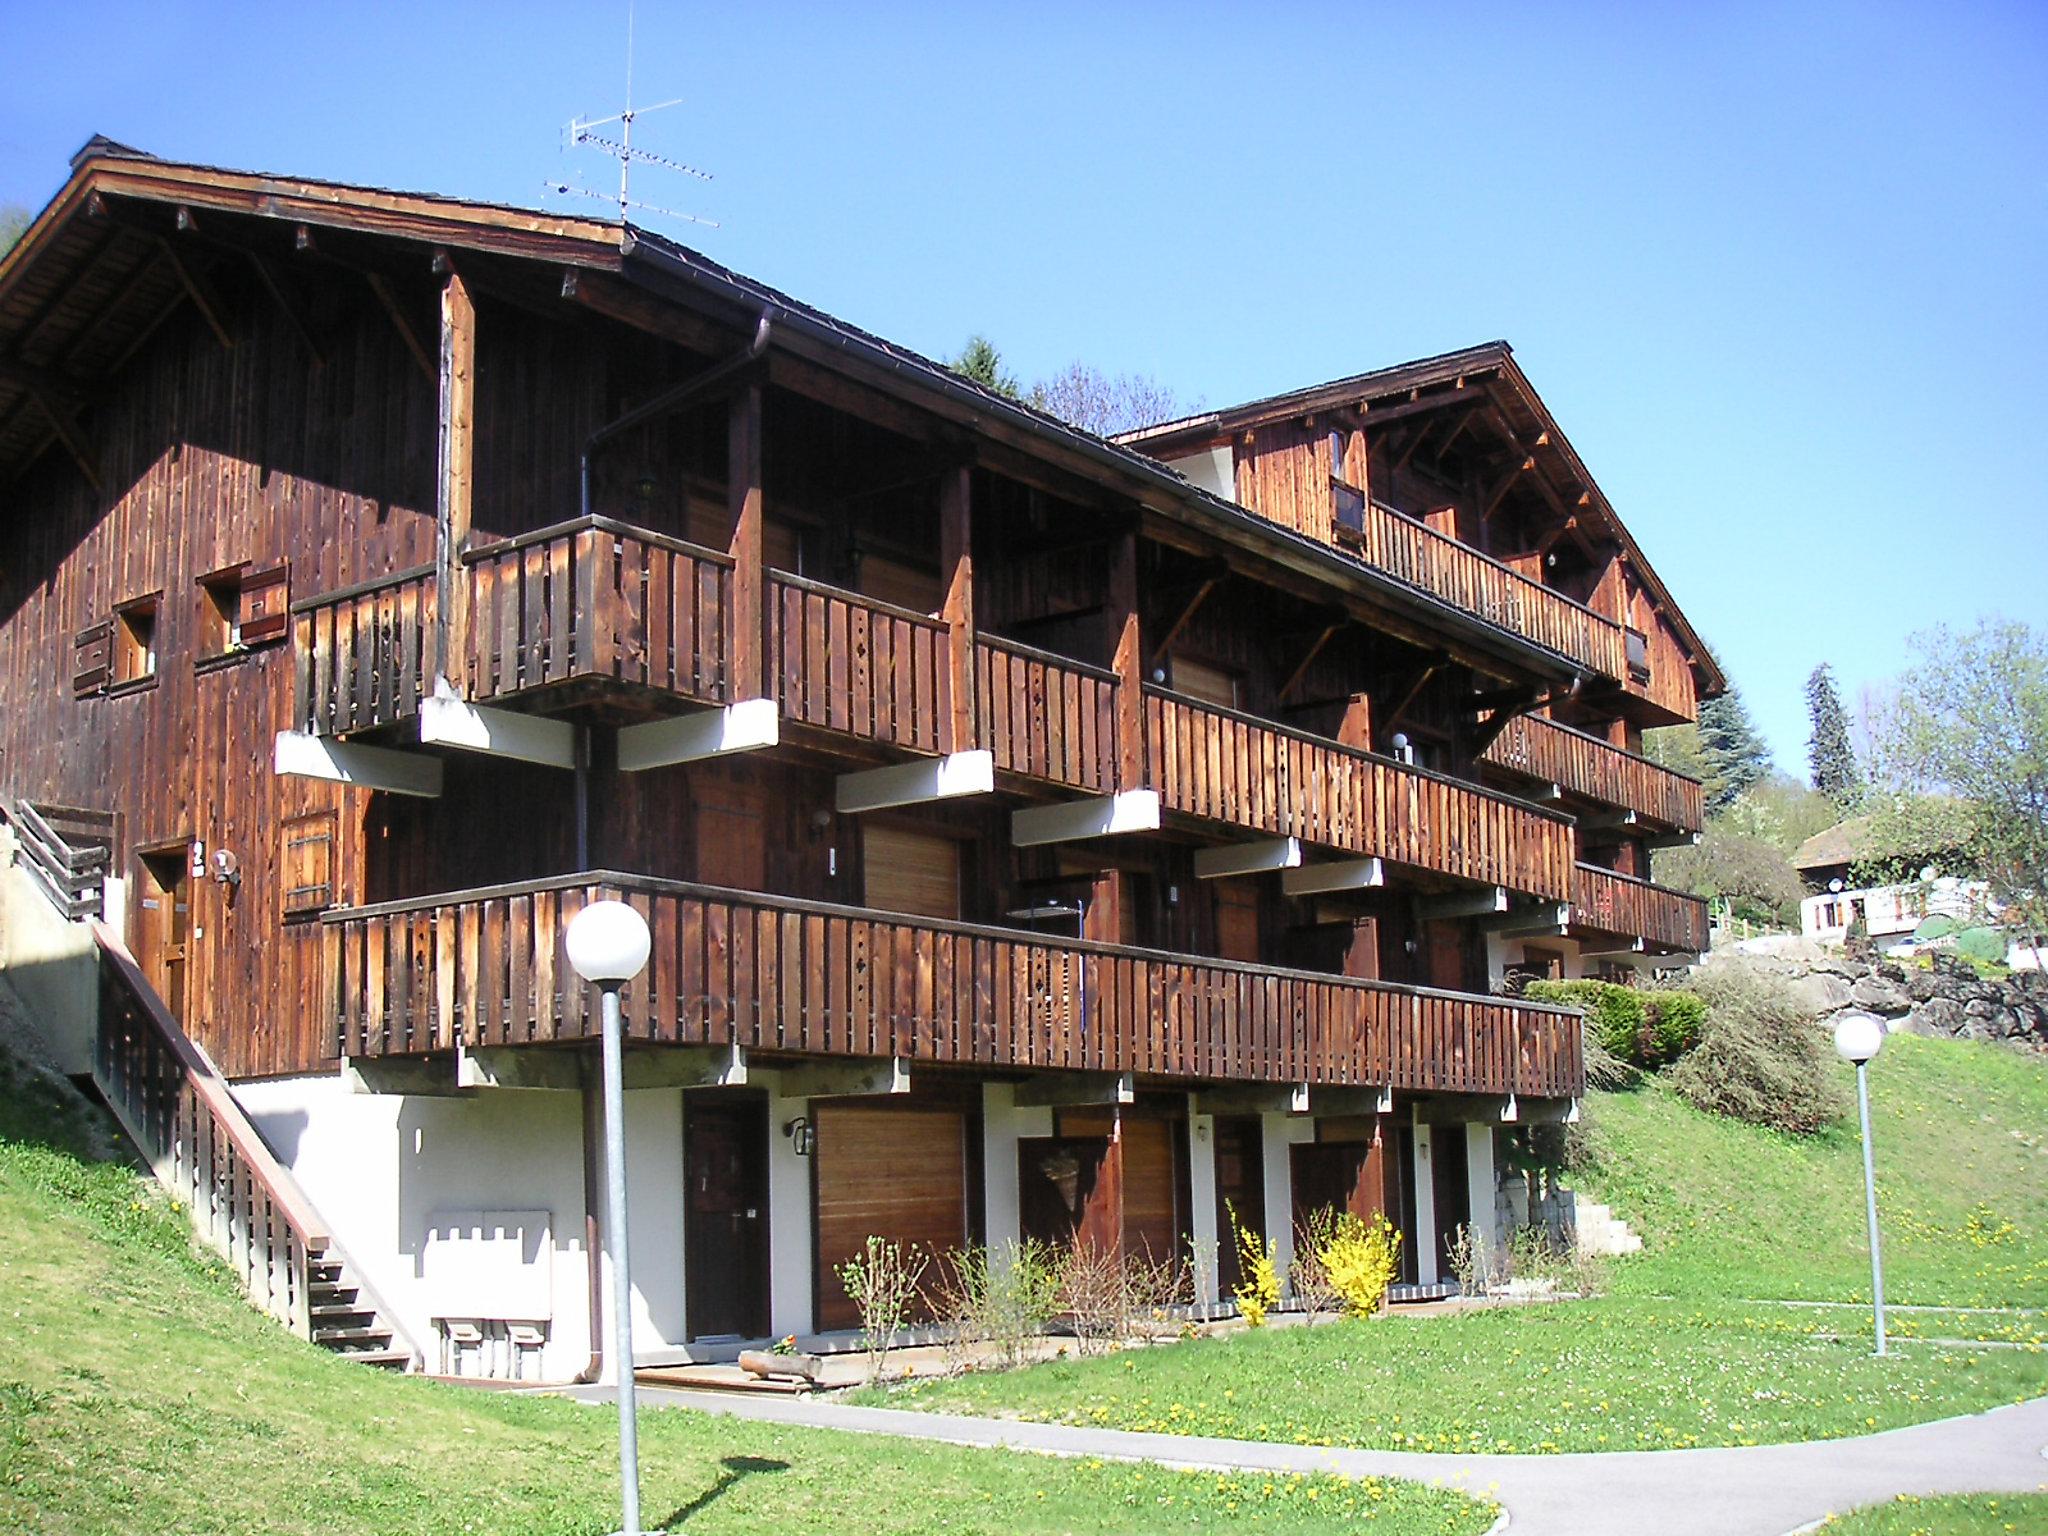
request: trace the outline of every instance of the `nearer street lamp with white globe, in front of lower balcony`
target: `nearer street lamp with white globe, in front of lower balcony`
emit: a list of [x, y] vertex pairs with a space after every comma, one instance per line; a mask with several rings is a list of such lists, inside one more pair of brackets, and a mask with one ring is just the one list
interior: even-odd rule
[[612, 1260], [612, 1354], [618, 1382], [621, 1536], [639, 1528], [639, 1415], [633, 1401], [633, 1266], [627, 1257], [627, 1092], [618, 1044], [618, 989], [647, 967], [647, 920], [625, 901], [592, 901], [569, 920], [569, 967], [604, 989], [604, 1176], [610, 1210], [604, 1247]]

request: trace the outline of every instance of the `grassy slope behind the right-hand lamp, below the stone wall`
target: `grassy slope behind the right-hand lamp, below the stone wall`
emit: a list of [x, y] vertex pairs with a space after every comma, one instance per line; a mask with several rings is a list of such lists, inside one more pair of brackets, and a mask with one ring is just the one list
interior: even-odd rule
[[[2048, 1063], [1894, 1034], [1870, 1067], [1870, 1112], [1888, 1300], [2048, 1307]], [[1614, 1290], [1870, 1298], [1853, 1118], [1786, 1137], [1655, 1081], [1593, 1094], [1587, 1118], [1593, 1167], [1577, 1182], [1642, 1235]]]

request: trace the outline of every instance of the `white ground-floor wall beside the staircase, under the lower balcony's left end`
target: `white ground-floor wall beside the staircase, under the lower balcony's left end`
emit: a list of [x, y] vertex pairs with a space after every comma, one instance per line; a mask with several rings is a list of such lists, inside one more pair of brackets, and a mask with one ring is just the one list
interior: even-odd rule
[[[590, 1354], [582, 1098], [487, 1090], [469, 1098], [352, 1094], [338, 1075], [236, 1085], [350, 1264], [434, 1350], [422, 1253], [453, 1210], [545, 1210], [553, 1319], [541, 1370], [561, 1380]], [[682, 1094], [627, 1094], [635, 1354], [682, 1343]], [[610, 1276], [604, 1278], [606, 1313]], [[606, 1325], [608, 1327], [608, 1325]]]

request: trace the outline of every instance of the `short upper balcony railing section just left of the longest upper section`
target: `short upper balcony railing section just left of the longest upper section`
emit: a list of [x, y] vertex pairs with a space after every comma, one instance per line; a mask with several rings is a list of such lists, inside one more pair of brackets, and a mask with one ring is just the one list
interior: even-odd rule
[[975, 745], [1004, 772], [1108, 795], [1116, 782], [1116, 674], [1018, 641], [975, 643]]

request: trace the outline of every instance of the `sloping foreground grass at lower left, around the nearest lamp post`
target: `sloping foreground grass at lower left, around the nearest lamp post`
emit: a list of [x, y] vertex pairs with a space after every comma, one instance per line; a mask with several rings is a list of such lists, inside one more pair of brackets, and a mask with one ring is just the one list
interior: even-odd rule
[[[0, 1083], [4, 1087], [4, 1083]], [[616, 1528], [616, 1417], [350, 1366], [190, 1251], [154, 1186], [0, 1106], [0, 1530], [383, 1536]], [[68, 1135], [59, 1135], [59, 1141]], [[641, 1415], [645, 1513], [688, 1532], [1473, 1536], [1495, 1509], [1393, 1481], [1243, 1479]]]

